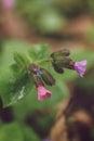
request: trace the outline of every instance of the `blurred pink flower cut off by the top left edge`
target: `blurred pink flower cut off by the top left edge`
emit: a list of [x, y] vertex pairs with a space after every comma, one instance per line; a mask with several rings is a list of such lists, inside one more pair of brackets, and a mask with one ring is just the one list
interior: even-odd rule
[[15, 0], [2, 0], [2, 7], [4, 9], [13, 9], [15, 4]]

